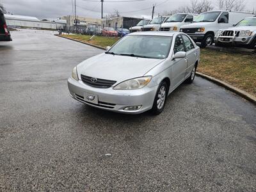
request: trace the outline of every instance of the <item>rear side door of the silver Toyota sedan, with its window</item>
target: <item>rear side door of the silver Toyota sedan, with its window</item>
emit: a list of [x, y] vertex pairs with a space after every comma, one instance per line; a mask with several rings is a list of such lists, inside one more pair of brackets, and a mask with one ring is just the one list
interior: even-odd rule
[[191, 40], [189, 39], [189, 37], [187, 35], [182, 35], [182, 38], [184, 40], [184, 45], [185, 45], [185, 49], [186, 49], [186, 57], [188, 59], [187, 62], [187, 67], [186, 67], [186, 72], [185, 72], [185, 78], [189, 76], [193, 66], [196, 63], [196, 56], [197, 56], [197, 52], [195, 50], [195, 46], [194, 44], [191, 42]]

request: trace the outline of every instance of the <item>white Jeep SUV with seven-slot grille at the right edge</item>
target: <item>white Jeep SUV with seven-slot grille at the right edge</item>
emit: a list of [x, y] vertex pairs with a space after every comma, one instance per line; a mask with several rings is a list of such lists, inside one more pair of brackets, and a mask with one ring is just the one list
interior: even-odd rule
[[234, 27], [217, 31], [215, 45], [240, 45], [248, 48], [256, 46], [256, 17], [241, 20]]

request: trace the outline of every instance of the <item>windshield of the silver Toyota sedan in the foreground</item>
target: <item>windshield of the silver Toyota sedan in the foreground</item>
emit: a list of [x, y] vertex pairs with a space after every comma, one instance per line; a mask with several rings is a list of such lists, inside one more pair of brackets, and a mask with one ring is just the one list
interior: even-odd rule
[[172, 36], [129, 35], [117, 42], [107, 54], [117, 54], [140, 58], [167, 58], [172, 44]]

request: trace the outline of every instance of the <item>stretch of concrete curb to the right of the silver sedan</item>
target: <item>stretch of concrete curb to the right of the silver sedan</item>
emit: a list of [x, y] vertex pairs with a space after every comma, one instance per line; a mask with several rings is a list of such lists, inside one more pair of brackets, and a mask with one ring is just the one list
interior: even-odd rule
[[226, 88], [227, 90], [230, 90], [231, 92], [236, 93], [237, 95], [243, 97], [246, 100], [249, 100], [250, 102], [252, 102], [253, 104], [256, 104], [256, 97], [251, 95], [250, 93], [244, 92], [243, 90], [236, 88], [228, 83], [225, 83], [223, 81], [220, 81], [219, 79], [215, 79], [214, 77], [211, 76], [207, 76], [205, 74], [201, 74], [200, 72], [196, 72], [197, 76], [200, 76], [204, 79], [207, 79], [209, 81], [212, 81], [213, 83], [216, 83], [220, 86], [223, 86], [224, 88]]

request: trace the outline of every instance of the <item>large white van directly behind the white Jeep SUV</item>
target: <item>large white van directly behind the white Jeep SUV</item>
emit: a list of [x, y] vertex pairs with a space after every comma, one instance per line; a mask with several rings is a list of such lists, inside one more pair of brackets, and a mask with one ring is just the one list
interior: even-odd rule
[[252, 13], [231, 11], [210, 11], [194, 17], [193, 23], [184, 25], [180, 31], [187, 33], [195, 42], [200, 42], [201, 47], [212, 45], [214, 35], [219, 29], [227, 29], [237, 24], [245, 17], [252, 17]]

